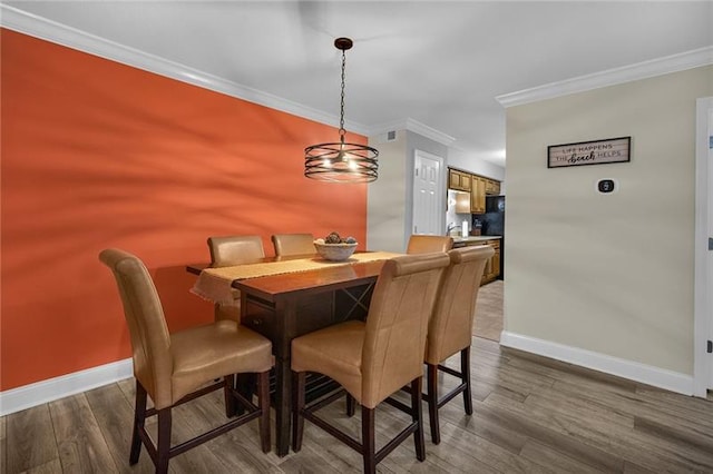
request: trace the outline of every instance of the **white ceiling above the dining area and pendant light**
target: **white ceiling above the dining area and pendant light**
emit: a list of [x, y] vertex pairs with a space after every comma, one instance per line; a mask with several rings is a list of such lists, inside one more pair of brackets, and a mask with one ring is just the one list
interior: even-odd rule
[[[713, 45], [712, 1], [2, 1], [319, 110], [348, 129], [414, 120], [505, 164], [497, 96]], [[381, 130], [385, 131], [385, 129]]]

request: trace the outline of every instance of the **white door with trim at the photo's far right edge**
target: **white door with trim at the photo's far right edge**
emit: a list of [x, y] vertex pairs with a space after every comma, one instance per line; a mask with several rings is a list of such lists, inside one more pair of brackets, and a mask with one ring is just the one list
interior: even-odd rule
[[693, 394], [713, 389], [713, 97], [696, 101]]

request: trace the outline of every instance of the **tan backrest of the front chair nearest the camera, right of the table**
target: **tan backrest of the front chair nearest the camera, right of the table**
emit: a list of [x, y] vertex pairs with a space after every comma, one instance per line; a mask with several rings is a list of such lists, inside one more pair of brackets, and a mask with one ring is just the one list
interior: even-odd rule
[[374, 287], [362, 348], [362, 405], [374, 408], [423, 374], [428, 319], [450, 259], [423, 254], [387, 260]]

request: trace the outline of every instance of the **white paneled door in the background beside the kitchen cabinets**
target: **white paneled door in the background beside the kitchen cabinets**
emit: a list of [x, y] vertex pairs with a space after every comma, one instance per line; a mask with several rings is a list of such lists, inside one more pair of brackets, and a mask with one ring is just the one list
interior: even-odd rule
[[443, 158], [416, 150], [413, 157], [412, 234], [443, 233]]

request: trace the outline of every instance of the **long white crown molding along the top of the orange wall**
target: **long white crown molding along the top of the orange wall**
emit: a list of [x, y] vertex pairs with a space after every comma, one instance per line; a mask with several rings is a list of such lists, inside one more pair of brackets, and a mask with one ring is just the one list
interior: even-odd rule
[[[253, 103], [303, 117], [320, 124], [336, 126], [339, 117], [293, 102], [291, 100], [253, 89], [188, 66], [149, 55], [114, 41], [87, 33], [76, 28], [38, 17], [18, 8], [0, 3], [0, 26], [9, 30], [40, 38], [81, 52], [120, 62], [193, 86], [235, 97]], [[346, 121], [345, 128], [354, 134], [369, 135], [364, 125]]]

